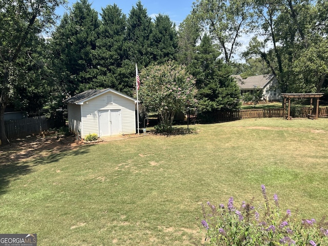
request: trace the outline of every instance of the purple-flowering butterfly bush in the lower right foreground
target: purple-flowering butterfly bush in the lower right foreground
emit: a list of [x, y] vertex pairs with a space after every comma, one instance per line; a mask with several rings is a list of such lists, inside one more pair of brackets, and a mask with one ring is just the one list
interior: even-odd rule
[[280, 210], [277, 194], [271, 200], [264, 185], [261, 189], [264, 204], [258, 208], [252, 201], [243, 201], [237, 209], [233, 197], [227, 207], [216, 207], [209, 201], [202, 204], [201, 223], [207, 230], [204, 245], [328, 245], [325, 217], [318, 222], [314, 218], [300, 220], [291, 210]]

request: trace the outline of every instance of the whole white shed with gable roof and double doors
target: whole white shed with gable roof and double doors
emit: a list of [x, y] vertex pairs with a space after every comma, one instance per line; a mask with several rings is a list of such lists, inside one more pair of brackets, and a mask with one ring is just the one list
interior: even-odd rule
[[137, 100], [113, 89], [88, 90], [66, 99], [68, 126], [85, 138], [136, 133]]

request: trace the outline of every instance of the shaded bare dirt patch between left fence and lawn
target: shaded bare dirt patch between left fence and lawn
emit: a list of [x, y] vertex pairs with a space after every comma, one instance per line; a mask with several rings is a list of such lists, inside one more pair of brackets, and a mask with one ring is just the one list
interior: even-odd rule
[[64, 150], [73, 150], [81, 144], [75, 140], [74, 136], [31, 136], [15, 139], [11, 141], [11, 145], [0, 146], [0, 165], [28, 161]]

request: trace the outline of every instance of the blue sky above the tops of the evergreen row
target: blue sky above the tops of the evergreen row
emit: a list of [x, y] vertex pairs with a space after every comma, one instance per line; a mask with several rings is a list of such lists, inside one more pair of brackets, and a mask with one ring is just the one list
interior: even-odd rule
[[[102, 12], [101, 8], [116, 4], [128, 17], [132, 6], [136, 6], [137, 1], [138, 0], [89, 0], [89, 3], [91, 3], [91, 7], [98, 13]], [[72, 7], [76, 2], [77, 0], [69, 0], [68, 7]], [[195, 0], [141, 0], [141, 4], [147, 9], [147, 13], [150, 17], [155, 18], [156, 14], [169, 15], [171, 21], [174, 22], [177, 27], [187, 15], [190, 14], [193, 2], [195, 2]], [[65, 11], [68, 12], [64, 7], [60, 7], [57, 9], [56, 13], [63, 15]]]

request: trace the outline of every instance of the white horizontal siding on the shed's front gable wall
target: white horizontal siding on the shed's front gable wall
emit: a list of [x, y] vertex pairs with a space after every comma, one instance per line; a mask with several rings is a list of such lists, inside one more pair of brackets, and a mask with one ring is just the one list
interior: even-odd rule
[[[106, 96], [108, 95], [112, 96], [112, 104], [107, 104]], [[90, 133], [99, 135], [98, 110], [111, 109], [121, 110], [121, 133], [134, 134], [136, 132], [134, 101], [108, 92], [92, 98], [88, 100], [87, 103], [81, 105], [81, 121], [83, 123], [83, 132], [81, 132], [81, 136], [84, 138]]]

